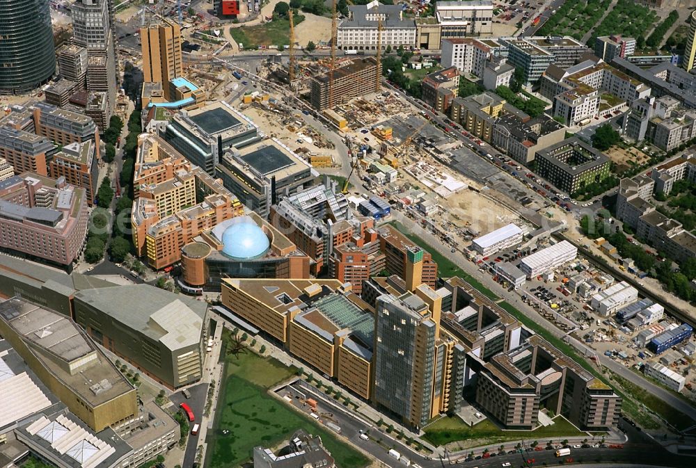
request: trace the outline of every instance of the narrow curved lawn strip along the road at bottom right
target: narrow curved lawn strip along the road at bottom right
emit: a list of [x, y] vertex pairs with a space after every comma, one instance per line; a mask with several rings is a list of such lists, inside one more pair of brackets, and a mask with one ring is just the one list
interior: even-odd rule
[[489, 419], [469, 427], [458, 417], [444, 417], [425, 428], [425, 438], [435, 445], [469, 439], [486, 439], [487, 444], [538, 439], [539, 444], [542, 444], [549, 440], [562, 440], [564, 437], [586, 435], [562, 416], [555, 417], [553, 421], [555, 424], [539, 427], [536, 430], [501, 430]]

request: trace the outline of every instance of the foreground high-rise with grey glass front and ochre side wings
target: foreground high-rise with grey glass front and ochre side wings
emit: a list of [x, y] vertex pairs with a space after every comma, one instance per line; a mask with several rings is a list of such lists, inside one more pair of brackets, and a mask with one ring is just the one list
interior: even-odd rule
[[426, 284], [377, 298], [374, 403], [412, 428], [459, 408], [465, 350], [440, 330], [442, 297]]

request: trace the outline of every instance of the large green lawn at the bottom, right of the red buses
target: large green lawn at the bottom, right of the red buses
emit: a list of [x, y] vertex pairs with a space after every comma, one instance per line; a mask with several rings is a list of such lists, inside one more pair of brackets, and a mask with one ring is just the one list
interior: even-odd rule
[[[251, 460], [255, 446], [276, 446], [300, 428], [322, 437], [337, 466], [362, 468], [368, 464], [361, 453], [267, 393], [269, 387], [292, 376], [292, 369], [250, 351], [239, 353], [239, 358], [229, 355], [226, 360], [226, 380], [214, 428], [207, 437], [210, 450], [206, 467], [242, 465]], [[223, 434], [223, 429], [230, 432]]]

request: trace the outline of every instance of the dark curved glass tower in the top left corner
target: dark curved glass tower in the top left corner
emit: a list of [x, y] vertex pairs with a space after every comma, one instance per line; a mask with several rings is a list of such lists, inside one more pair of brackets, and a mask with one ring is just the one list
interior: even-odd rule
[[0, 0], [0, 94], [38, 88], [56, 72], [47, 0]]

